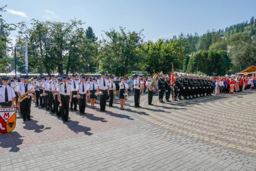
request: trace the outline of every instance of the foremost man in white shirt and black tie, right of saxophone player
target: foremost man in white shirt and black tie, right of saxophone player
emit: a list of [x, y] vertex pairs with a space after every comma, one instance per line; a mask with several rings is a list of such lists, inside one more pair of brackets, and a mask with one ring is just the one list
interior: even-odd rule
[[67, 76], [63, 76], [62, 81], [57, 88], [58, 101], [61, 103], [59, 112], [61, 113], [63, 122], [69, 122], [69, 103], [72, 99], [73, 87], [70, 83], [67, 83]]

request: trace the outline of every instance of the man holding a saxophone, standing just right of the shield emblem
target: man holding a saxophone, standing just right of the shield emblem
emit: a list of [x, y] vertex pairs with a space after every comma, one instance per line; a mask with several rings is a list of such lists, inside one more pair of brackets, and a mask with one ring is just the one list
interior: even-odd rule
[[30, 113], [31, 113], [31, 101], [32, 101], [32, 93], [35, 91], [34, 90], [34, 86], [32, 84], [30, 84], [28, 82], [29, 80], [29, 76], [24, 76], [24, 83], [20, 84], [19, 86], [19, 90], [18, 95], [19, 98], [26, 94], [26, 92], [29, 92], [28, 95], [30, 95], [29, 98], [25, 98], [22, 102], [20, 102], [20, 108], [21, 108], [21, 112], [22, 112], [22, 117], [23, 117], [23, 121], [26, 122], [26, 120], [31, 120], [30, 119]]

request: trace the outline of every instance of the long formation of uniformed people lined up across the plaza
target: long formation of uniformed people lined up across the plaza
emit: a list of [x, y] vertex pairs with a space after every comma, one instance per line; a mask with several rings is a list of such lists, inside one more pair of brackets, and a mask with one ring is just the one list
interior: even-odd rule
[[[255, 88], [256, 79], [248, 76], [198, 76], [195, 74], [172, 74], [162, 72], [147, 76], [117, 77], [101, 73], [101, 77], [72, 76], [38, 76], [29, 78], [3, 77], [0, 80], [0, 108], [16, 107], [23, 121], [31, 120], [31, 102], [45, 108], [63, 122], [69, 122], [69, 111], [79, 111], [86, 115], [87, 102], [95, 109], [99, 99], [100, 111], [115, 106], [115, 99], [120, 99], [120, 109], [125, 109], [126, 100], [134, 94], [134, 107], [140, 107], [140, 96], [148, 94], [148, 105], [152, 104], [154, 95], [159, 102], [175, 102], [191, 98], [200, 98], [223, 93], [240, 92]], [[170, 97], [172, 95], [172, 99]], [[165, 97], [165, 101], [163, 98]]]

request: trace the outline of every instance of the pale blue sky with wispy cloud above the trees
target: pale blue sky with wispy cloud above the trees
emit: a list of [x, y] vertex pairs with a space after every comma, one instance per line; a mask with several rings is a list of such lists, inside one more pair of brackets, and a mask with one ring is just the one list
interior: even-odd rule
[[102, 30], [122, 26], [131, 31], [144, 29], [145, 40], [154, 41], [181, 32], [225, 29], [256, 17], [253, 0], [1, 0], [3, 5], [8, 5], [8, 12], [3, 13], [8, 23], [77, 18], [86, 22], [84, 27], [93, 27], [99, 38]]

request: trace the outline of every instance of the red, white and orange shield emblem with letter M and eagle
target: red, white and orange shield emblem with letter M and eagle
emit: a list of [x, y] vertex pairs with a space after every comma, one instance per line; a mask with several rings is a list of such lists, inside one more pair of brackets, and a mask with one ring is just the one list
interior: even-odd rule
[[0, 133], [10, 133], [16, 126], [16, 108], [0, 109]]

